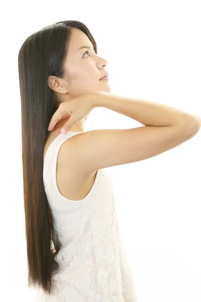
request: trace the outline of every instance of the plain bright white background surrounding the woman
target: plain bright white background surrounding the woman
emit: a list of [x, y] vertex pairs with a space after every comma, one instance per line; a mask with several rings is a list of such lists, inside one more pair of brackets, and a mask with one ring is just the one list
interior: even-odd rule
[[[199, 1], [34, 1], [1, 11], [1, 295], [34, 301], [27, 287], [18, 53], [62, 20], [91, 31], [108, 61], [111, 93], [201, 116]], [[142, 126], [95, 108], [84, 130]], [[200, 302], [201, 131], [159, 156], [108, 168], [139, 302]], [[103, 301], [105, 302], [105, 301]]]

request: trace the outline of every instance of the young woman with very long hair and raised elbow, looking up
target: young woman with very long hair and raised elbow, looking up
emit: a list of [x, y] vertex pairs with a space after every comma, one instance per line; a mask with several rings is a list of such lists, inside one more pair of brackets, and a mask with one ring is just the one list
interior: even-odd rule
[[[166, 152], [193, 137], [200, 120], [111, 94], [102, 79], [107, 61], [78, 21], [28, 37], [18, 63], [29, 286], [38, 287], [40, 302], [135, 302], [113, 182], [104, 168]], [[84, 132], [95, 107], [144, 126]]]

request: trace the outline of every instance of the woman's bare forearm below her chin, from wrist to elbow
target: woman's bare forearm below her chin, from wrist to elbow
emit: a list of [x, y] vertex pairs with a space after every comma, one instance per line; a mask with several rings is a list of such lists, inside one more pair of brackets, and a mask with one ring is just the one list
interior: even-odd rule
[[194, 115], [182, 110], [147, 100], [96, 92], [95, 107], [105, 107], [126, 115], [145, 126], [170, 126], [175, 124], [198, 127]]

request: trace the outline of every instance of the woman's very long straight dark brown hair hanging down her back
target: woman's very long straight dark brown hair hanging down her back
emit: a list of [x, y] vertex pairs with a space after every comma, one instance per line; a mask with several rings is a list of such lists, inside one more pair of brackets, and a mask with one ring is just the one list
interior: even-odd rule
[[64, 62], [71, 28], [84, 32], [97, 54], [97, 45], [88, 28], [67, 20], [47, 26], [29, 36], [18, 56], [21, 113], [24, 208], [28, 260], [28, 286], [52, 293], [51, 275], [58, 252], [52, 240], [52, 212], [43, 183], [43, 155], [52, 115], [59, 107], [48, 77], [65, 76]]

